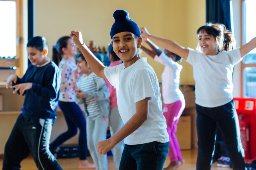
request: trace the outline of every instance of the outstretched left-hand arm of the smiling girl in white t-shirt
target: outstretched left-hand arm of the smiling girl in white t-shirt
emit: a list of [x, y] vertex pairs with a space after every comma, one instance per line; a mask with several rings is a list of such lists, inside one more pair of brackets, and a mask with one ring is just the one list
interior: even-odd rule
[[151, 35], [147, 31], [146, 27], [140, 28], [140, 31], [141, 31], [141, 37], [148, 38], [156, 42], [157, 44], [161, 45], [162, 47], [168, 49], [169, 51], [181, 56], [184, 59], [187, 59], [189, 50], [179, 45], [178, 43], [172, 40]]

